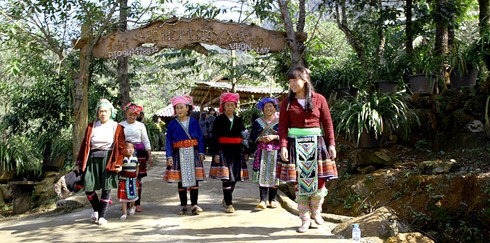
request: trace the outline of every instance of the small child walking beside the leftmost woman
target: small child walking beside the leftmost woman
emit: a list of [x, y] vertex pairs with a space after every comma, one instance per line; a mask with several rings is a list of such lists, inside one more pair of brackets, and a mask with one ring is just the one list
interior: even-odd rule
[[122, 203], [123, 211], [121, 220], [125, 220], [127, 218], [128, 202], [130, 204], [129, 215], [134, 215], [136, 211], [134, 202], [138, 200], [138, 185], [136, 181], [139, 172], [139, 162], [138, 158], [136, 158], [133, 154], [133, 144], [126, 142], [123, 164], [121, 167], [117, 168], [117, 171], [119, 172], [117, 197], [119, 198], [119, 202]]

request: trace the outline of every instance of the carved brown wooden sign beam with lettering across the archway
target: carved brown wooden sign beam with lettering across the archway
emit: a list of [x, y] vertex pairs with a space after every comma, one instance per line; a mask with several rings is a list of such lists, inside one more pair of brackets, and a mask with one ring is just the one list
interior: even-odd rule
[[[255, 51], [259, 54], [266, 54], [283, 50], [287, 42], [285, 32], [267, 30], [256, 25], [202, 18], [173, 18], [105, 36], [95, 45], [93, 56], [116, 58], [151, 55], [163, 48], [191, 48], [206, 52], [205, 48], [200, 45], [201, 43], [216, 45], [228, 50]], [[143, 44], [147, 45], [142, 46]], [[83, 44], [75, 46], [75, 48], [82, 47]]]

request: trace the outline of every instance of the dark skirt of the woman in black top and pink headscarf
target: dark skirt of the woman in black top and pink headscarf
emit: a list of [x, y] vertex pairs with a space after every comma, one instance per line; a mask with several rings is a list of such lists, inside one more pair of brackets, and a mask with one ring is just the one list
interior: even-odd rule
[[209, 177], [223, 181], [248, 179], [247, 162], [243, 158], [241, 144], [220, 144], [219, 163], [211, 162]]

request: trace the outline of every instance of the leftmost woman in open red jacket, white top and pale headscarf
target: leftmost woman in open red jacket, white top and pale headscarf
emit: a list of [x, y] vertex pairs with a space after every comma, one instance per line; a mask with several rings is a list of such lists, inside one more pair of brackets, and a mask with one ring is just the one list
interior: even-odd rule
[[[111, 102], [100, 99], [97, 119], [87, 126], [77, 157], [77, 169], [83, 172], [83, 186], [94, 212], [90, 220], [107, 224], [105, 213], [111, 201], [111, 189], [117, 189], [117, 170], [121, 167], [126, 148], [124, 128], [115, 122]], [[97, 196], [96, 190], [102, 190]]]

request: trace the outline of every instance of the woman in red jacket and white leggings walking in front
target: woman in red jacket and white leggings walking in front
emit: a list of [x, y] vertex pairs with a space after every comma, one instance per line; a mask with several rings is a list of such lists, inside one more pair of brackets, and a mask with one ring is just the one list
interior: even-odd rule
[[[337, 178], [335, 137], [327, 100], [315, 93], [310, 71], [292, 68], [287, 74], [289, 95], [279, 113], [280, 155], [278, 178], [296, 183], [302, 221], [298, 232], [311, 226], [311, 217], [323, 224], [321, 210], [327, 195], [325, 182]], [[311, 216], [310, 216], [311, 213]]]

